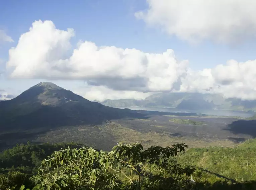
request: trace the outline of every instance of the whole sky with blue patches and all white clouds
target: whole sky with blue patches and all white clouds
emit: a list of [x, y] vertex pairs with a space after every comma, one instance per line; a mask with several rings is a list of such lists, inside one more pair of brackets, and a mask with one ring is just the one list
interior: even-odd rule
[[53, 82], [89, 100], [256, 99], [254, 0], [0, 1], [0, 99]]

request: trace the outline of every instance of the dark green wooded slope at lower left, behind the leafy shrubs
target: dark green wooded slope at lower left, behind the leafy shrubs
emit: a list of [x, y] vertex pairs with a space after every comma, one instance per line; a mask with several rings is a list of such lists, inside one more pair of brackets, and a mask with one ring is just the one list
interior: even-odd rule
[[[58, 144], [30, 144], [16, 145], [0, 154], [0, 190], [8, 187], [20, 187], [25, 184], [28, 188], [32, 187], [29, 178], [37, 171], [41, 161], [50, 156], [54, 151], [61, 148], [82, 147], [77, 143], [58, 143]], [[17, 188], [18, 189], [18, 188]]]

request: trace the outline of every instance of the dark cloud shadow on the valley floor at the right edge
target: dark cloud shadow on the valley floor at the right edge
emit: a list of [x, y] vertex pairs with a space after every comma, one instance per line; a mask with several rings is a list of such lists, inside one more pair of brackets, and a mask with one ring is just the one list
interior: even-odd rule
[[233, 134], [246, 134], [252, 138], [256, 137], [256, 120], [238, 120], [233, 121], [227, 126], [227, 129]]

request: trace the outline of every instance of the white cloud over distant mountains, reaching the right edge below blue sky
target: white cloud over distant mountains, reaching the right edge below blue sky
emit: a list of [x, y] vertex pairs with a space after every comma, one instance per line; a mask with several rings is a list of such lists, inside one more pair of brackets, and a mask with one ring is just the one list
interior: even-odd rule
[[227, 98], [256, 99], [256, 60], [227, 61], [211, 69], [189, 70], [181, 79], [183, 92], [221, 93]]

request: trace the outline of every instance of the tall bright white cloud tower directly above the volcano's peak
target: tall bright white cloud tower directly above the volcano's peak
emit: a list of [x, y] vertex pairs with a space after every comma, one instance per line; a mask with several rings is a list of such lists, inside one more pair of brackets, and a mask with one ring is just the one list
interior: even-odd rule
[[[9, 50], [7, 67], [14, 68], [13, 77], [50, 77], [51, 67], [61, 64], [70, 49], [70, 38], [74, 31], [58, 30], [52, 21], [35, 21], [29, 32], [20, 36], [18, 44]], [[53, 63], [55, 62], [55, 63]], [[54, 73], [61, 71], [55, 70]]]

